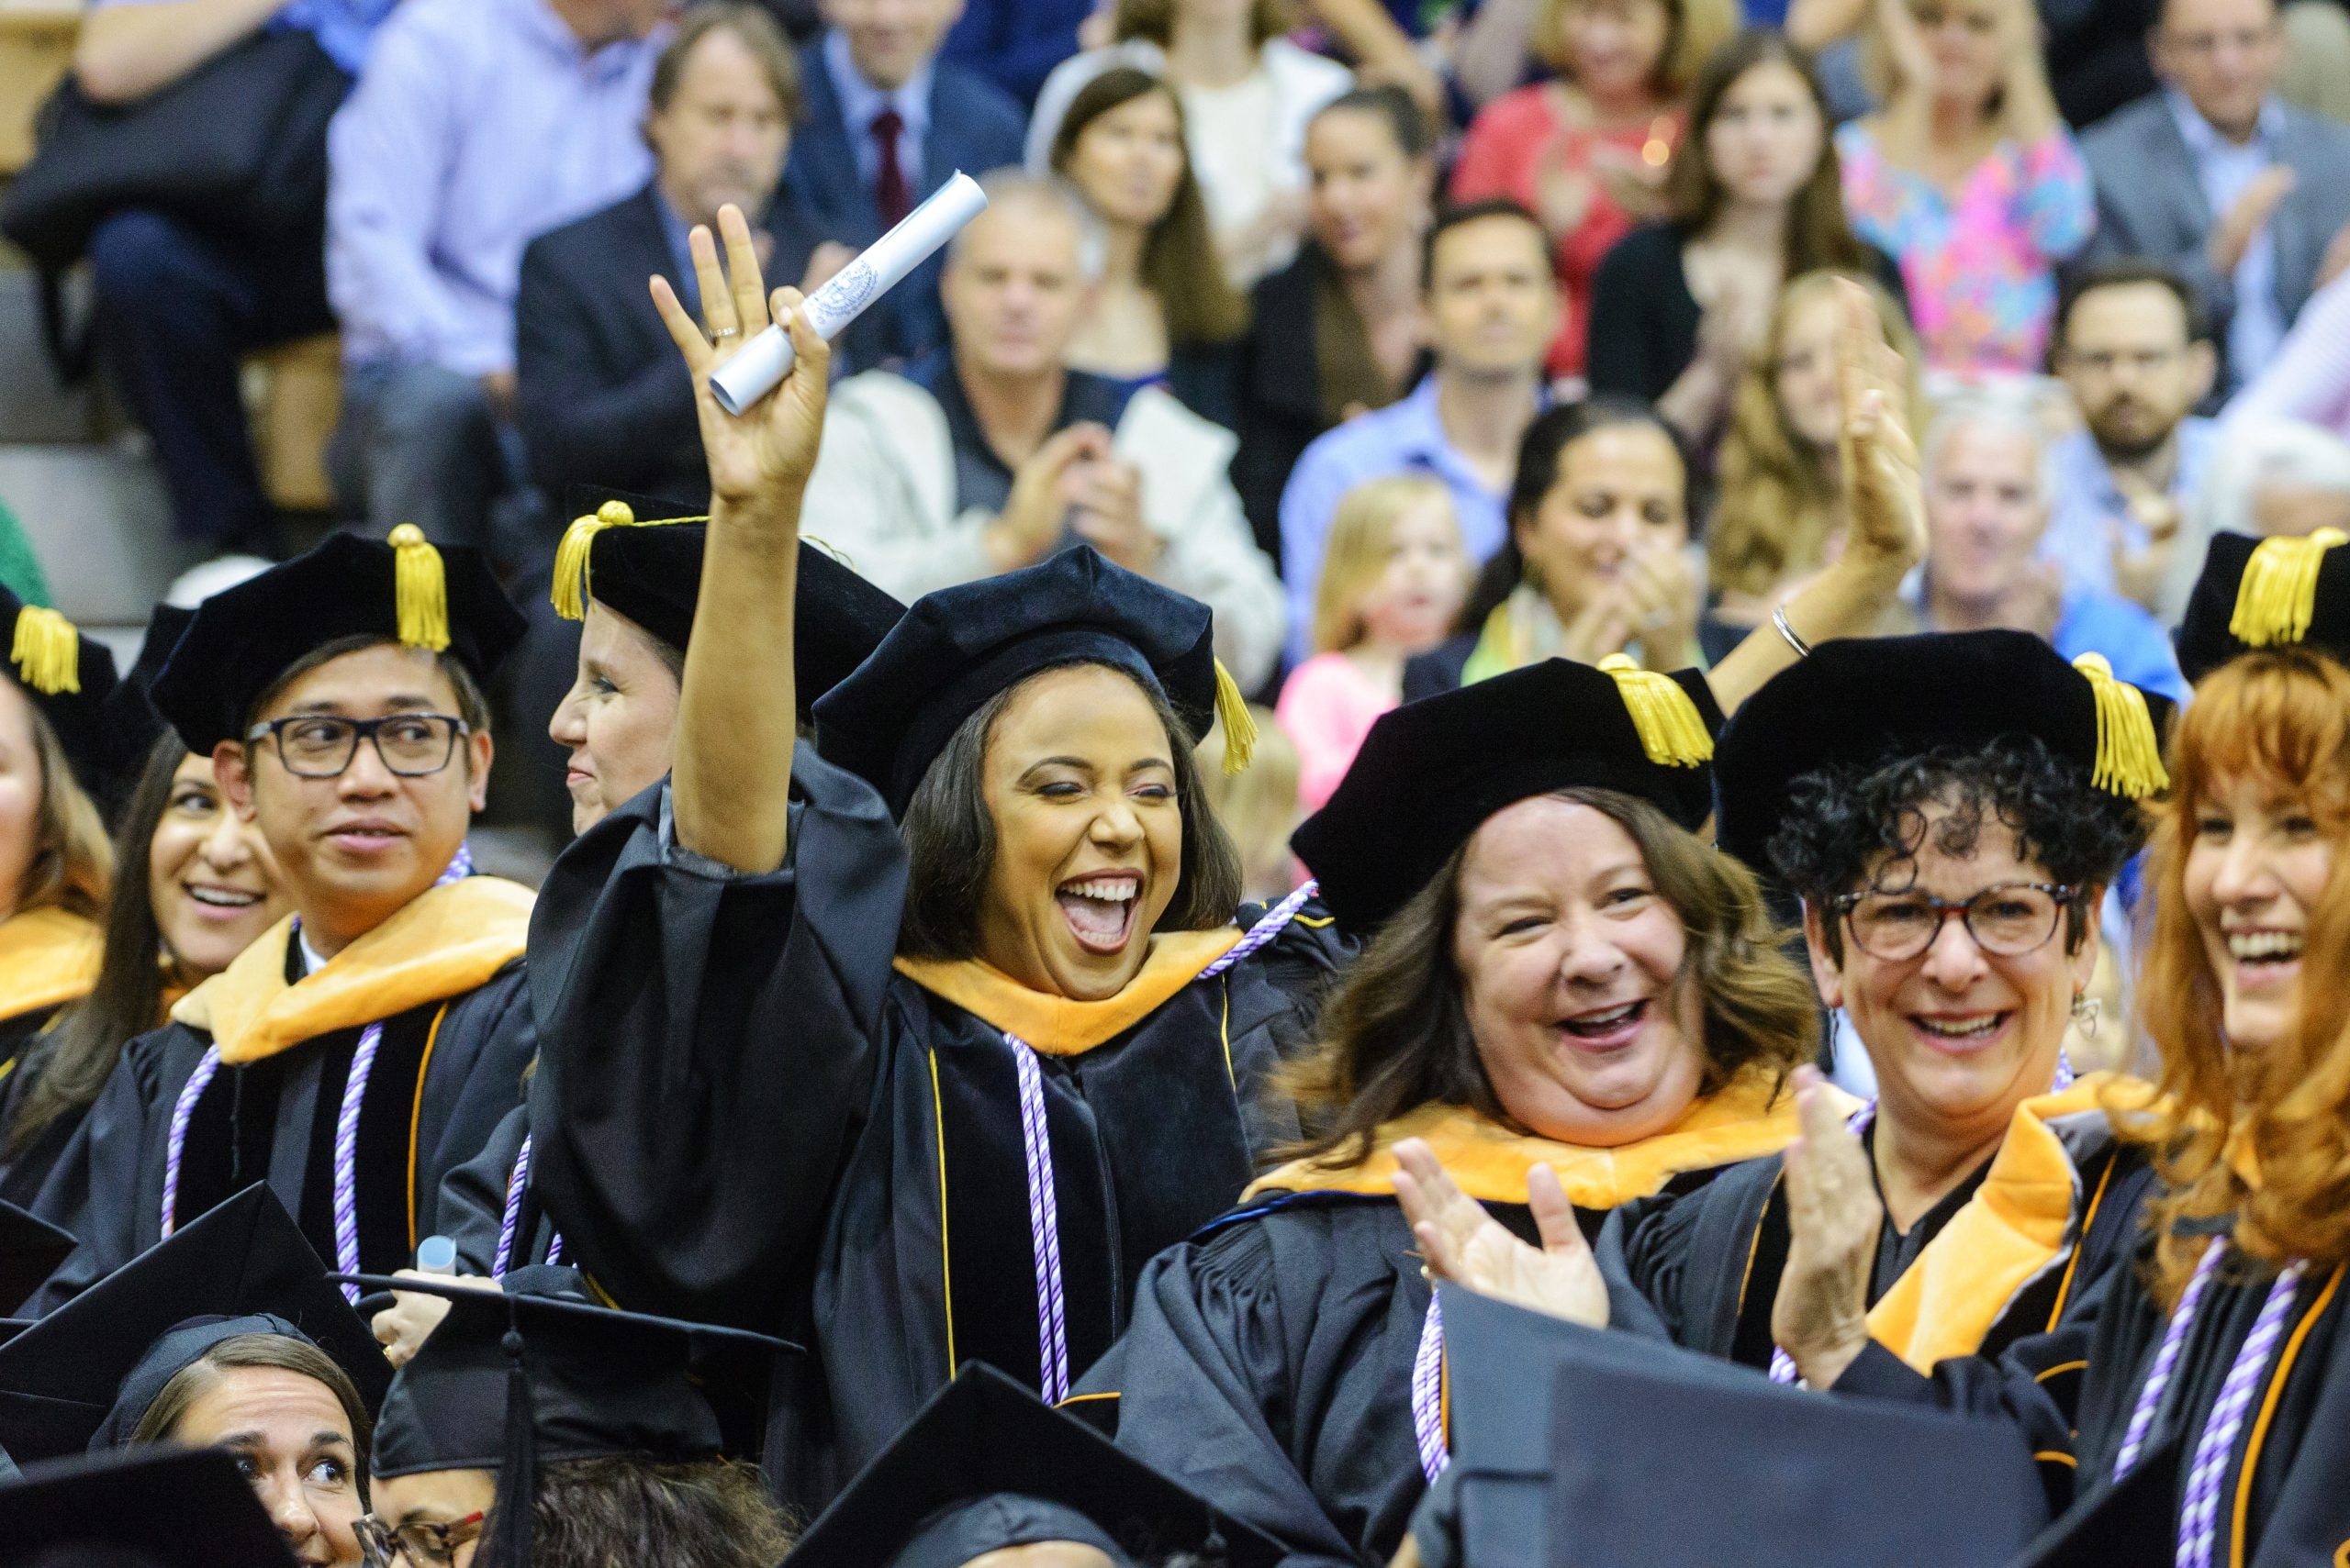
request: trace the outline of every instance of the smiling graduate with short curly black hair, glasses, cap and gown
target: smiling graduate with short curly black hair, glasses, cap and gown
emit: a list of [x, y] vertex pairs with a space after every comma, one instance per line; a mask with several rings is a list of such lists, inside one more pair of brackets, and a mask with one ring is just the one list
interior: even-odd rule
[[[2096, 1035], [2096, 911], [2153, 784], [2113, 765], [2124, 709], [2150, 758], [2169, 704], [2026, 631], [1866, 638], [1777, 676], [1713, 758], [1723, 850], [1802, 901], [1819, 995], [1875, 1068], [1849, 1176], [1885, 1218], [1856, 1249], [1868, 1314], [1835, 1331], [1918, 1371], [2044, 1333], [2129, 1265], [2150, 1171], [2101, 1108], [2113, 1075], [2073, 1082], [2066, 1059]], [[1791, 1171], [1772, 1155], [1617, 1209], [1612, 1322], [1791, 1378], [1774, 1305], [1812, 1268]]]

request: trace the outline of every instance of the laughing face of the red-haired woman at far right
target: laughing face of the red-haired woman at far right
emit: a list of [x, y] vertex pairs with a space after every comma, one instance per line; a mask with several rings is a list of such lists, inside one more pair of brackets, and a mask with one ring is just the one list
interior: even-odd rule
[[2200, 803], [2186, 904], [2218, 979], [2228, 1045], [2261, 1052], [2301, 1019], [2301, 944], [2334, 876], [2334, 840], [2305, 800], [2256, 775], [2225, 775]]

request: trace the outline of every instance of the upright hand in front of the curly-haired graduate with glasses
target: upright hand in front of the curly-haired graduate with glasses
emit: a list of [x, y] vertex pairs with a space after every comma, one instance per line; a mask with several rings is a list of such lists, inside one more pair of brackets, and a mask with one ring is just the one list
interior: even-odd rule
[[1786, 1145], [1786, 1272], [1770, 1331], [1812, 1387], [1833, 1387], [1868, 1343], [1868, 1275], [1885, 1202], [1868, 1150], [1817, 1068], [1795, 1068], [1802, 1134]]

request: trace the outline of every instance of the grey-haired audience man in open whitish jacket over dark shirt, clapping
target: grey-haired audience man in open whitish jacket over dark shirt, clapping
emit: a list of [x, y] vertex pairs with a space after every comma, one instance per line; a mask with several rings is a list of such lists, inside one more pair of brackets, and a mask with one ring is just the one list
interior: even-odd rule
[[1224, 477], [1231, 434], [1159, 387], [1062, 364], [1086, 315], [1086, 225], [1067, 185], [992, 176], [947, 249], [947, 345], [834, 390], [801, 526], [909, 603], [1093, 545], [1215, 610], [1217, 657], [1255, 688], [1283, 606]]

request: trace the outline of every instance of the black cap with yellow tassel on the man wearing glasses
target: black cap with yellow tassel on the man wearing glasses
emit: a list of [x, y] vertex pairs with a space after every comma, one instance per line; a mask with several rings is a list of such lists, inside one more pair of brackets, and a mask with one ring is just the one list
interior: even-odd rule
[[378, 636], [444, 650], [489, 681], [522, 629], [479, 549], [435, 547], [411, 523], [381, 545], [331, 533], [310, 554], [200, 603], [150, 695], [188, 751], [212, 756], [223, 739], [242, 739], [261, 692], [327, 643]]

